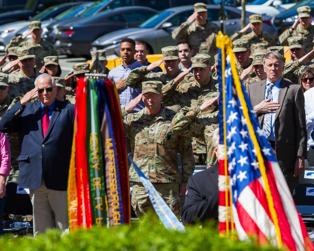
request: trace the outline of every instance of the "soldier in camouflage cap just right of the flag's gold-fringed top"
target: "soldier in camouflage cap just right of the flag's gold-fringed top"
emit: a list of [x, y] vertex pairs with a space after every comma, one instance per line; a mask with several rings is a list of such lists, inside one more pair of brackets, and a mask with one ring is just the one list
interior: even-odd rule
[[249, 40], [247, 38], [240, 38], [233, 41], [232, 44], [232, 51], [235, 54], [237, 60], [236, 69], [240, 78], [246, 79], [247, 77], [256, 77], [252, 66], [253, 60], [250, 58], [251, 49]]

